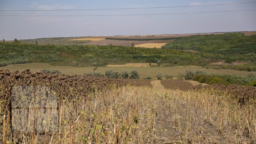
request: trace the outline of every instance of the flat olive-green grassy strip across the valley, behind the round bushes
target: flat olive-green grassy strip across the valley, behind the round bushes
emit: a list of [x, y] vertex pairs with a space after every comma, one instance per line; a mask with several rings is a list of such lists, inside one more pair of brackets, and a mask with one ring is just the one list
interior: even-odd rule
[[[95, 67], [76, 67], [76, 66], [53, 66], [47, 63], [28, 63], [28, 64], [14, 64], [14, 65], [7, 65], [0, 67], [2, 69], [10, 69], [11, 71], [19, 70], [23, 71], [26, 68], [30, 68], [31, 71], [40, 71], [44, 68], [46, 69], [58, 69], [61, 71], [62, 74], [69, 74], [69, 75], [82, 75], [85, 73], [91, 73], [93, 72], [93, 68]], [[160, 71], [163, 75], [173, 75], [174, 78], [177, 78], [178, 73], [183, 73], [186, 70], [202, 70], [207, 73], [213, 73], [213, 74], [231, 74], [231, 75], [241, 75], [241, 76], [247, 76], [249, 73], [254, 73], [256, 75], [256, 72], [248, 72], [248, 71], [236, 71], [236, 70], [218, 70], [218, 69], [206, 69], [202, 67], [196, 67], [196, 66], [186, 66], [186, 67], [98, 67], [96, 69], [96, 72], [100, 72], [105, 74], [106, 70], [113, 70], [121, 72], [122, 70], [130, 71], [132, 69], [135, 69], [139, 71], [140, 78], [145, 78], [147, 76], [151, 76], [153, 79], [156, 79], [156, 73]]]

